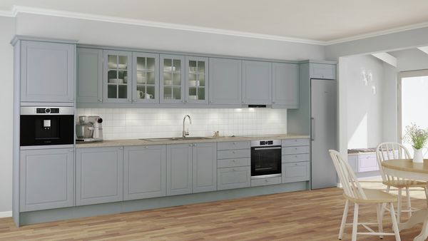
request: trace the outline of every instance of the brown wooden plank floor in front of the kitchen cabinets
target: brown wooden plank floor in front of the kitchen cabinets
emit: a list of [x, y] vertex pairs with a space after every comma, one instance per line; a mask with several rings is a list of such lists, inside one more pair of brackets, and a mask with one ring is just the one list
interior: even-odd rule
[[[365, 184], [372, 188], [379, 184]], [[412, 204], [425, 207], [422, 189]], [[15, 227], [0, 219], [0, 240], [337, 240], [345, 200], [342, 190], [280, 193], [116, 215], [86, 217]], [[350, 208], [351, 210], [351, 208]], [[375, 206], [363, 205], [360, 220], [374, 220]], [[348, 222], [352, 220], [352, 211]], [[422, 225], [401, 232], [412, 240]], [[390, 231], [385, 215], [384, 229]], [[350, 240], [351, 228], [343, 240]], [[360, 236], [358, 240], [379, 240]], [[384, 237], [394, 240], [394, 237]]]

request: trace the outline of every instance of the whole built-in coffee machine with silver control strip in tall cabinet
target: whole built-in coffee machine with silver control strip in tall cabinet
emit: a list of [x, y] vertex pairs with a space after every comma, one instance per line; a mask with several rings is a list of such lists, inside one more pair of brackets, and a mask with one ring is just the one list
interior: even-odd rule
[[73, 143], [73, 107], [21, 106], [21, 149], [46, 145], [69, 148], [73, 147]]

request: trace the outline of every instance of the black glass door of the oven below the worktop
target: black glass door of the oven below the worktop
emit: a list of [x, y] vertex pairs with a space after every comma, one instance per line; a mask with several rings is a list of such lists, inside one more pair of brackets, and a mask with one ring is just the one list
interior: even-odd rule
[[281, 146], [251, 148], [251, 176], [281, 174]]

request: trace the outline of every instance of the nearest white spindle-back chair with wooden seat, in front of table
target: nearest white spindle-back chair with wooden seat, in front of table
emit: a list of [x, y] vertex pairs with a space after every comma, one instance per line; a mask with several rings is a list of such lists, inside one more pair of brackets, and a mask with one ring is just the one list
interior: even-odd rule
[[[400, 241], [397, 219], [395, 218], [393, 202], [397, 202], [397, 197], [389, 193], [384, 193], [381, 190], [370, 190], [361, 188], [360, 183], [352, 171], [352, 168], [347, 161], [343, 160], [336, 150], [329, 150], [333, 164], [335, 165], [337, 175], [343, 187], [343, 196], [346, 199], [345, 210], [343, 210], [342, 222], [340, 224], [339, 239], [342, 240], [345, 225], [352, 225], [352, 241], [357, 240], [357, 235], [379, 235], [382, 238], [384, 235], [395, 235], [395, 240]], [[350, 202], [354, 203], [354, 221], [346, 223], [347, 212]], [[382, 204], [389, 204], [389, 213], [392, 219], [392, 230], [394, 232], [383, 232], [382, 227]], [[376, 204], [377, 205], [377, 222], [358, 222], [358, 208], [361, 204]], [[357, 232], [358, 225], [362, 225], [369, 232]], [[378, 232], [374, 232], [368, 225], [377, 225]]]

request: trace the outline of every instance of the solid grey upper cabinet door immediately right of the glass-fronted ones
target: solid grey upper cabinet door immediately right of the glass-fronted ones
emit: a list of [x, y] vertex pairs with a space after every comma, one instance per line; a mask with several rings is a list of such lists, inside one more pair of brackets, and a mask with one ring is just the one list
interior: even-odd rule
[[210, 58], [210, 104], [240, 105], [242, 98], [242, 61]]

